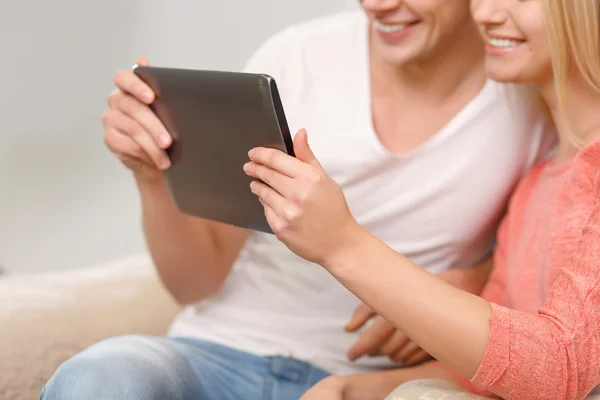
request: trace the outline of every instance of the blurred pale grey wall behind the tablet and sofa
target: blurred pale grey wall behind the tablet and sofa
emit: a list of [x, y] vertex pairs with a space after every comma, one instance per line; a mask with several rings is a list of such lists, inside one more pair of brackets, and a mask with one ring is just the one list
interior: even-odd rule
[[76, 268], [144, 251], [137, 193], [102, 142], [112, 75], [240, 69], [288, 24], [354, 0], [2, 0], [0, 265]]

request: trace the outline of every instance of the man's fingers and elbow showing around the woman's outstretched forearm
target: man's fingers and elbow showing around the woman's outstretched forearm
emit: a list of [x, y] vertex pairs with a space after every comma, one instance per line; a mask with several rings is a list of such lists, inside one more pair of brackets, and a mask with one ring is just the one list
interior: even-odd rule
[[[438, 276], [460, 289], [479, 294], [487, 282], [492, 267], [493, 259], [490, 257], [472, 268], [451, 268]], [[345, 329], [348, 332], [356, 332], [371, 319], [373, 319], [372, 325], [348, 351], [350, 360], [354, 361], [367, 355], [388, 356], [392, 361], [402, 363], [404, 366], [412, 366], [429, 358], [429, 354], [421, 350], [392, 324], [378, 316], [366, 304], [361, 304], [356, 309]]]

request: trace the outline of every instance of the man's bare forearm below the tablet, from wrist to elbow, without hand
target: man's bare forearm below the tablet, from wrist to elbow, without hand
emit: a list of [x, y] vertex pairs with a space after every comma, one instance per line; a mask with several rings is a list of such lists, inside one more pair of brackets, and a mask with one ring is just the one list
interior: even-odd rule
[[[162, 178], [136, 177], [150, 253], [165, 287], [182, 304], [212, 296], [227, 277], [245, 230], [181, 213]], [[221, 243], [223, 234], [229, 243]], [[238, 249], [239, 250], [239, 249]]]

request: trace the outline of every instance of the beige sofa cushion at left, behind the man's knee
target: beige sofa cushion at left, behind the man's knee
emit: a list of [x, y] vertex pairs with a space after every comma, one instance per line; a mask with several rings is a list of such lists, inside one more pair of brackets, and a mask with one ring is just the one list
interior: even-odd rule
[[145, 255], [0, 278], [0, 399], [37, 398], [62, 362], [102, 339], [164, 335], [178, 309]]

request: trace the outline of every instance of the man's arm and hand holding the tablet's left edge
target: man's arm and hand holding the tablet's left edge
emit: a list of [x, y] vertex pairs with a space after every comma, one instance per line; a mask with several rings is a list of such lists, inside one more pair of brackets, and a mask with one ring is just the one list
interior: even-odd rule
[[[138, 65], [149, 65], [139, 58]], [[179, 212], [163, 171], [171, 166], [166, 149], [170, 132], [151, 110], [155, 93], [133, 71], [114, 77], [117, 90], [102, 115], [104, 142], [133, 172], [143, 209], [146, 241], [160, 277], [182, 304], [215, 294], [249, 232]]]

